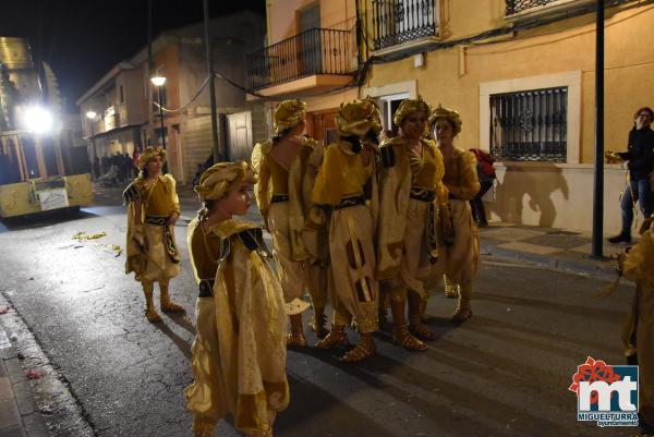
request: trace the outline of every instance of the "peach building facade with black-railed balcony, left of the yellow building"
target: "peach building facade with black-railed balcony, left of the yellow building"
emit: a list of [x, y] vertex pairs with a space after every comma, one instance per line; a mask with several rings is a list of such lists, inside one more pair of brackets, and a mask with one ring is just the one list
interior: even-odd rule
[[336, 138], [336, 112], [359, 97], [356, 4], [353, 0], [268, 0], [267, 46], [249, 56], [247, 87], [266, 101], [268, 120], [287, 98], [307, 104], [306, 133]]

